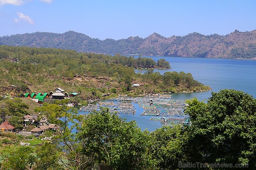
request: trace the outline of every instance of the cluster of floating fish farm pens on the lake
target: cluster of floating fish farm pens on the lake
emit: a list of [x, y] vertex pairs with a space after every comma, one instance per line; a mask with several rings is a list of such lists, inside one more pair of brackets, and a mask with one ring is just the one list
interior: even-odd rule
[[[163, 122], [164, 126], [174, 126], [175, 124], [188, 123], [188, 115], [184, 114], [186, 107], [184, 100], [172, 100], [171, 96], [144, 96], [127, 97], [121, 96], [99, 101], [98, 104], [88, 104], [80, 111], [86, 113], [99, 111], [101, 107], [108, 107], [111, 113], [135, 114], [136, 108], [133, 103], [137, 103], [144, 111], [141, 116], [151, 116], [150, 120]], [[153, 117], [154, 116], [154, 117]], [[156, 117], [155, 117], [156, 116]]]

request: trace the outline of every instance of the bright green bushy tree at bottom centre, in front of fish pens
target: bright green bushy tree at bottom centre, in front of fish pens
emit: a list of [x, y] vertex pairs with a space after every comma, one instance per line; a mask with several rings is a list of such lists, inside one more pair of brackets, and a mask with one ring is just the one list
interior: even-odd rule
[[82, 122], [76, 136], [81, 140], [84, 158], [76, 169], [96, 169], [98, 164], [114, 169], [149, 169], [150, 138], [135, 121], [125, 122], [108, 108], [91, 113]]

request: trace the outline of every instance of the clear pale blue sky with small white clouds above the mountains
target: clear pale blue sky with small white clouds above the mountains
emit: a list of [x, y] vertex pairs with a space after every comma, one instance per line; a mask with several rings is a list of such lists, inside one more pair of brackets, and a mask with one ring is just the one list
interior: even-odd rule
[[72, 30], [119, 40], [236, 29], [256, 29], [256, 0], [0, 0], [0, 36]]

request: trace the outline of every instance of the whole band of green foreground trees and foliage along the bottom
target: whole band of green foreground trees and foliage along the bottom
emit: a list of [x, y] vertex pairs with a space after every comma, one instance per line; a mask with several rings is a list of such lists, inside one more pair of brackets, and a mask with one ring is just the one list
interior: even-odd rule
[[[212, 92], [207, 103], [187, 100], [188, 124], [151, 133], [141, 131], [135, 121], [126, 122], [111, 114], [108, 108], [78, 115], [67, 103], [56, 101], [36, 108], [60, 127], [44, 134], [56, 144], [44, 144], [36, 153], [27, 147], [17, 149], [2, 158], [2, 167], [96, 170], [99, 164], [106, 164], [116, 170], [167, 170], [180, 169], [179, 162], [216, 162], [256, 168], [256, 100], [247, 93], [221, 90]], [[37, 139], [34, 145], [38, 142], [42, 141]]]

